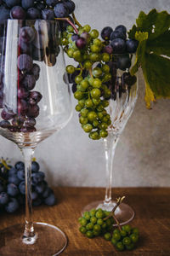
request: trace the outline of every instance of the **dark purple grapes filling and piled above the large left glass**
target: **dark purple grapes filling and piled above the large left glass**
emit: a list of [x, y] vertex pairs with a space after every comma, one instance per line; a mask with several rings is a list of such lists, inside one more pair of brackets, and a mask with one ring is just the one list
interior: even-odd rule
[[[71, 0], [2, 0], [0, 1], [0, 108], [3, 108], [4, 63], [6, 20], [20, 20], [18, 36], [18, 78], [17, 111], [7, 107], [1, 112], [0, 127], [9, 131], [32, 132], [36, 130], [36, 119], [40, 109], [37, 105], [42, 95], [35, 89], [39, 79], [40, 67], [35, 61], [44, 61], [52, 67], [59, 55], [59, 32], [57, 18], [68, 17], [75, 9]], [[42, 19], [42, 20], [41, 20]], [[62, 23], [62, 29], [68, 25]]]

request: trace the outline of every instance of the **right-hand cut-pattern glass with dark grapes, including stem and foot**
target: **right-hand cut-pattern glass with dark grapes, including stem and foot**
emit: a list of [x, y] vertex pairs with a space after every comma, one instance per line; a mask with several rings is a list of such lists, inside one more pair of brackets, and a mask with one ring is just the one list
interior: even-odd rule
[[[111, 195], [113, 160], [119, 137], [127, 124], [127, 120], [133, 113], [133, 108], [137, 101], [138, 80], [136, 76], [129, 74], [129, 70], [135, 60], [134, 54], [115, 55], [114, 59], [115, 62], [110, 63], [113, 76], [109, 85], [111, 99], [107, 108], [107, 112], [111, 115], [111, 125], [107, 130], [108, 137], [104, 138], [106, 164], [105, 200], [91, 202], [82, 209], [82, 214], [94, 208], [111, 211], [116, 205], [116, 200], [113, 200]], [[118, 68], [116, 63], [119, 63], [118, 66], [122, 68]], [[134, 211], [132, 207], [122, 203], [116, 208], [115, 215], [120, 224], [127, 224], [133, 219]]]

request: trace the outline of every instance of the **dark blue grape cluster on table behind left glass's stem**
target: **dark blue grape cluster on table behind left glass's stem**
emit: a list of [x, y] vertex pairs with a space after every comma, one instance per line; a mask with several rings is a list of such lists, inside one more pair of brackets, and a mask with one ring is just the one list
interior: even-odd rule
[[[31, 162], [31, 196], [33, 206], [45, 203], [53, 206], [55, 203], [54, 192], [45, 181], [45, 174], [39, 171], [37, 161]], [[9, 166], [5, 160], [0, 162], [0, 212], [15, 212], [25, 204], [26, 183], [25, 165], [18, 161], [14, 166]]]

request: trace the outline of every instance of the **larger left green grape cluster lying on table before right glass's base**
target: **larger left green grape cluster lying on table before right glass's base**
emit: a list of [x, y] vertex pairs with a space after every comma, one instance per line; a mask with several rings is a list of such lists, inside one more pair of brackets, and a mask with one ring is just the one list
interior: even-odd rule
[[111, 236], [111, 230], [113, 230], [114, 224], [112, 217], [105, 220], [105, 217], [110, 213], [100, 208], [98, 210], [93, 209], [90, 212], [84, 212], [83, 217], [78, 219], [81, 224], [79, 228], [80, 232], [88, 238], [94, 238], [96, 236], [105, 236], [105, 239], [108, 238], [108, 236]]

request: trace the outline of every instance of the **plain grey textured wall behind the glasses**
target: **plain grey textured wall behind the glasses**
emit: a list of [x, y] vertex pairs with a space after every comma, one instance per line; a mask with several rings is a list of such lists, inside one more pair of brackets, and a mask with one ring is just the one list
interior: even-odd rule
[[[99, 30], [119, 24], [130, 28], [140, 10], [170, 11], [169, 0], [75, 0], [75, 3], [78, 20]], [[170, 185], [169, 124], [169, 101], [157, 102], [152, 110], [145, 108], [144, 79], [139, 73], [139, 100], [116, 148], [113, 186]], [[14, 143], [3, 137], [0, 143], [0, 155], [10, 158], [12, 163], [20, 160], [20, 151]], [[37, 147], [35, 156], [53, 185], [105, 186], [102, 141], [88, 139], [75, 112], [65, 129]]]

